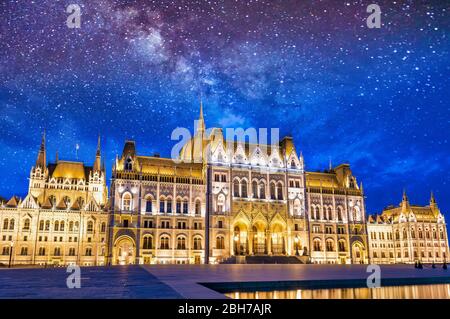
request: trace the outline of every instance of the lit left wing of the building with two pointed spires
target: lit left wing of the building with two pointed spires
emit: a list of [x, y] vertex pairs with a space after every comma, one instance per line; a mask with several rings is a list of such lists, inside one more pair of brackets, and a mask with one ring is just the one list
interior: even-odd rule
[[28, 195], [0, 207], [0, 263], [103, 265], [108, 213], [100, 140], [93, 166], [46, 158], [44, 135]]

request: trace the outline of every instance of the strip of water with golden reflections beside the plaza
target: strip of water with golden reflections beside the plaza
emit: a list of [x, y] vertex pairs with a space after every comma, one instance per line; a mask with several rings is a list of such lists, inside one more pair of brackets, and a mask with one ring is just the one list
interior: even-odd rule
[[225, 293], [233, 299], [450, 299], [450, 284]]

